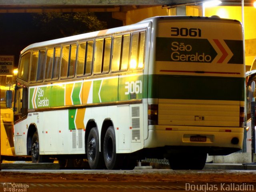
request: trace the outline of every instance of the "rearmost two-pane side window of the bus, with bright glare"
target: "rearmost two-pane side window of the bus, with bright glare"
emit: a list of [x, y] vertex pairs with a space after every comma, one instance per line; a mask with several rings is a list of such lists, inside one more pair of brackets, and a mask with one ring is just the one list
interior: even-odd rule
[[145, 38], [145, 32], [132, 35], [132, 53], [129, 66], [130, 69], [143, 68], [144, 66]]

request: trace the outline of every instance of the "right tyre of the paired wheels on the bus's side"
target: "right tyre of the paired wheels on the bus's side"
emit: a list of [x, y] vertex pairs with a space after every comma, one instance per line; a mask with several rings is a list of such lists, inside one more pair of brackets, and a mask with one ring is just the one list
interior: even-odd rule
[[121, 168], [122, 154], [116, 153], [116, 137], [112, 126], [108, 127], [104, 137], [103, 154], [107, 169], [117, 170]]

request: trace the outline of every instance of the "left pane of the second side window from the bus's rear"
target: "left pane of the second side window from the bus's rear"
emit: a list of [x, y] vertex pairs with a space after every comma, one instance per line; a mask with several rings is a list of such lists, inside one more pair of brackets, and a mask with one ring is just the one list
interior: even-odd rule
[[113, 44], [113, 57], [112, 57], [112, 63], [111, 63], [111, 71], [119, 71], [121, 46], [122, 46], [122, 36], [115, 37], [114, 44]]

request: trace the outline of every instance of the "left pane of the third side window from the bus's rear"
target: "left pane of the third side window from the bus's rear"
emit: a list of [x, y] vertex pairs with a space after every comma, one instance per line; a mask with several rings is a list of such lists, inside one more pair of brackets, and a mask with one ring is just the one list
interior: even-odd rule
[[103, 56], [103, 42], [104, 42], [103, 39], [96, 40], [94, 66], [93, 66], [94, 73], [101, 73], [102, 56]]

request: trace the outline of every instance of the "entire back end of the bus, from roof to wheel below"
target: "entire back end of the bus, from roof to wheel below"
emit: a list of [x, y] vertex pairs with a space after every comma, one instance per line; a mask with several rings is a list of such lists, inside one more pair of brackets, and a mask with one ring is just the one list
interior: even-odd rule
[[156, 20], [145, 147], [164, 150], [173, 169], [201, 169], [207, 154], [226, 155], [242, 148], [242, 26], [220, 18]]

